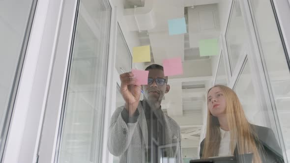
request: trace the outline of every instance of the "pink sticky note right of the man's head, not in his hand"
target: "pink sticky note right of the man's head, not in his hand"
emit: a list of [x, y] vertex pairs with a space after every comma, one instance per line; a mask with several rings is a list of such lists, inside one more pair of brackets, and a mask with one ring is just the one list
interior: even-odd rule
[[163, 68], [165, 76], [173, 76], [183, 74], [182, 63], [180, 57], [163, 60]]

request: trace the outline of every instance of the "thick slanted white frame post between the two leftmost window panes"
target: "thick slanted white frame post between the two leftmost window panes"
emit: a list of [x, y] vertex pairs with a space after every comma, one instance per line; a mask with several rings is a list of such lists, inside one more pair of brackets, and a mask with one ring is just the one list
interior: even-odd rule
[[77, 1], [63, 1], [62, 18], [58, 29], [57, 49], [55, 51], [49, 94], [46, 99], [42, 133], [40, 133], [41, 138], [38, 145], [39, 163], [54, 163], [55, 161], [58, 128], [69, 64], [69, 54], [73, 39]]

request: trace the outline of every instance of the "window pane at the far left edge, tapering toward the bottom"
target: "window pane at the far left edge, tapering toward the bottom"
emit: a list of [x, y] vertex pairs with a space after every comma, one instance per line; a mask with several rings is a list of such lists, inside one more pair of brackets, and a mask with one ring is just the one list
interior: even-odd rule
[[0, 0], [0, 158], [35, 9], [34, 0]]

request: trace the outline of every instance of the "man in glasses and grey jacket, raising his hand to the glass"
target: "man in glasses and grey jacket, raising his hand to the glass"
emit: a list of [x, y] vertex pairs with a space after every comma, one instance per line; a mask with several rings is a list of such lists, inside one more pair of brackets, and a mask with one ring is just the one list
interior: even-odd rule
[[[148, 66], [148, 84], [134, 85], [131, 72], [120, 75], [120, 92], [125, 105], [111, 118], [109, 151], [120, 163], [158, 163], [160, 158], [181, 163], [181, 134], [178, 124], [161, 109], [161, 101], [170, 90], [163, 67]], [[141, 89], [144, 100], [139, 101]]]

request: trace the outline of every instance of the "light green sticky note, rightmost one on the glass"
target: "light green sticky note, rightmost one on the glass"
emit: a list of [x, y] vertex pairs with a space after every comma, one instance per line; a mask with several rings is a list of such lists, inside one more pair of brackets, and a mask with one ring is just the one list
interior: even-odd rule
[[211, 56], [219, 54], [217, 39], [206, 39], [199, 41], [200, 56]]

